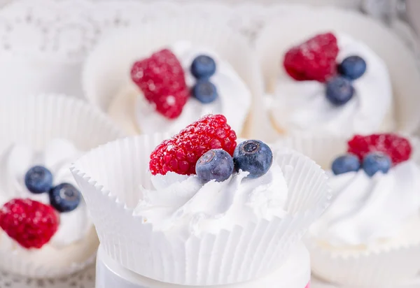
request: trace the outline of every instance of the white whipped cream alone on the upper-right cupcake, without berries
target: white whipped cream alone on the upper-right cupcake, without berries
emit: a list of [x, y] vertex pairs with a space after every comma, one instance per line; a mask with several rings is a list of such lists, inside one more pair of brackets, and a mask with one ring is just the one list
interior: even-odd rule
[[[280, 73], [276, 91], [268, 101], [274, 124], [284, 131], [322, 131], [329, 134], [369, 134], [389, 120], [392, 87], [388, 69], [367, 45], [349, 36], [335, 34], [339, 46], [337, 63], [351, 55], [365, 59], [366, 72], [353, 81], [355, 94], [343, 106], [334, 106], [325, 96], [325, 84], [296, 81]], [[384, 123], [385, 122], [385, 123]]]

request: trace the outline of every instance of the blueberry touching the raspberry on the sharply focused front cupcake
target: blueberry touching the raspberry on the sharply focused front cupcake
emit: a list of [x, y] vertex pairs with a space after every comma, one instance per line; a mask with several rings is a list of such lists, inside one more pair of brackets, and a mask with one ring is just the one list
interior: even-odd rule
[[225, 150], [209, 150], [198, 159], [195, 173], [203, 182], [223, 182], [233, 173], [233, 159]]

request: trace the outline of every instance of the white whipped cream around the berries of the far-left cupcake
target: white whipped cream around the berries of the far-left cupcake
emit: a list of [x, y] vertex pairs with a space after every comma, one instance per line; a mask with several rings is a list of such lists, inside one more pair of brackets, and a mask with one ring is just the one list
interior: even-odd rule
[[[53, 185], [67, 182], [77, 187], [69, 166], [79, 155], [80, 152], [76, 147], [64, 139], [50, 141], [43, 151], [34, 151], [27, 145], [10, 145], [0, 159], [0, 206], [14, 198], [29, 198], [50, 204], [48, 193], [33, 194], [25, 185], [25, 174], [29, 168], [36, 165], [45, 166], [51, 171]], [[92, 222], [83, 199], [75, 210], [59, 213], [59, 221], [57, 232], [44, 247], [51, 246], [57, 249], [66, 247], [83, 239], [92, 229]], [[0, 249], [25, 250], [3, 231], [1, 235]]]

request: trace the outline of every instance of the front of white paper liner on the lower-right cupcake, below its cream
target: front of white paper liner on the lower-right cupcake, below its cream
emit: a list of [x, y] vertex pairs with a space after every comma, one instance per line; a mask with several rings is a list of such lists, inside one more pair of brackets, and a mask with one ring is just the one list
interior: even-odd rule
[[310, 240], [307, 247], [311, 254], [312, 273], [346, 287], [397, 287], [420, 271], [420, 242], [351, 256], [332, 252]]

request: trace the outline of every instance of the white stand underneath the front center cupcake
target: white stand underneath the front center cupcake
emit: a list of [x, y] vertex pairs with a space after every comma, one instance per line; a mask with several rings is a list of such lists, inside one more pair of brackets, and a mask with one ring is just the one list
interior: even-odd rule
[[[302, 259], [303, 263], [293, 261]], [[273, 273], [251, 282], [224, 285], [221, 288], [260, 288], [260, 287], [287, 287], [304, 288], [310, 279], [309, 252], [302, 243], [293, 248], [286, 265], [281, 266]], [[97, 255], [96, 288], [182, 288], [187, 286], [172, 285], [142, 277], [132, 271], [123, 268], [113, 261], [101, 247]], [[290, 277], [290, 275], [293, 275]], [[208, 286], [207, 288], [215, 288]], [[220, 287], [220, 286], [218, 286]], [[188, 288], [199, 288], [188, 286]]]

